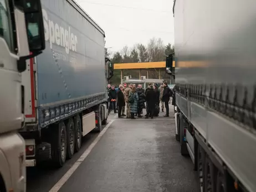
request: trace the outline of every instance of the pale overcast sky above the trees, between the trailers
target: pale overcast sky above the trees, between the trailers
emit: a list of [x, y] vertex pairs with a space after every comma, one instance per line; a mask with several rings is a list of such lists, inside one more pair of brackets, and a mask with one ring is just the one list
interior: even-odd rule
[[76, 0], [105, 31], [106, 47], [147, 44], [161, 38], [173, 44], [173, 0]]

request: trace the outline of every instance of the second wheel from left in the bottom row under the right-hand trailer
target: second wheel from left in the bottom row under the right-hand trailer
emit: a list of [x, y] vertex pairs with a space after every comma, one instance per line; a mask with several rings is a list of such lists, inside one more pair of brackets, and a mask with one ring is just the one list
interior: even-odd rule
[[216, 177], [215, 177], [215, 168], [211, 161], [211, 159], [206, 155], [206, 163], [204, 164], [204, 183], [205, 188], [207, 191], [212, 192], [215, 191], [215, 185], [216, 185]]

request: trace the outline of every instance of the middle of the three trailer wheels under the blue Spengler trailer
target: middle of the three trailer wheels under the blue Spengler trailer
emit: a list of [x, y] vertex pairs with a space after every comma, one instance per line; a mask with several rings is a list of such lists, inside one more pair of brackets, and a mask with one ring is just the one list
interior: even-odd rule
[[66, 157], [71, 159], [75, 151], [75, 127], [73, 118], [69, 118], [69, 122], [66, 125]]

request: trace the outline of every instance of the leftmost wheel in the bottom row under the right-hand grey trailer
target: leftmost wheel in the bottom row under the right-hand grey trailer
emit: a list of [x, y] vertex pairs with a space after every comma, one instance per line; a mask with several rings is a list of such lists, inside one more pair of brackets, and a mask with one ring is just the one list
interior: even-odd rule
[[203, 148], [199, 146], [197, 148], [197, 175], [198, 175], [198, 184], [199, 184], [199, 191], [204, 192], [205, 185], [204, 185], [204, 168], [206, 162], [206, 154], [203, 151]]

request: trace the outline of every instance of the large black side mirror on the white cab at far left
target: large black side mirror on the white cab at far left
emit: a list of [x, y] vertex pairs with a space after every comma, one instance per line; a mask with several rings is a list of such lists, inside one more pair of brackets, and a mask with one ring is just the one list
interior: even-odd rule
[[23, 0], [29, 51], [32, 55], [45, 49], [44, 24], [40, 0]]

